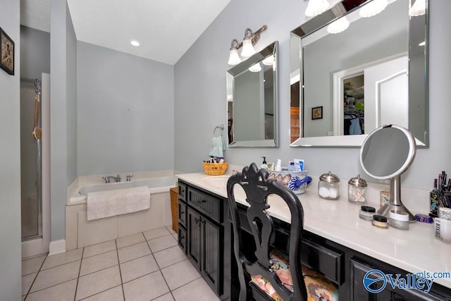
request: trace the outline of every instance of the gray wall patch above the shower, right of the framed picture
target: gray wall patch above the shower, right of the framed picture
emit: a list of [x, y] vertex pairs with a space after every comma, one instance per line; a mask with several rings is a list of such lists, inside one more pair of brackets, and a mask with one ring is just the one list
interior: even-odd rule
[[50, 33], [20, 26], [20, 77], [37, 78], [50, 73]]

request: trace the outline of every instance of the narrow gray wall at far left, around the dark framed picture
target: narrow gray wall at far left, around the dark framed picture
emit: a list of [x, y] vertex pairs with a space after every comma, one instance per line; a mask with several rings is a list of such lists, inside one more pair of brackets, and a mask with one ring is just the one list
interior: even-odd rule
[[0, 27], [16, 43], [15, 75], [0, 69], [0, 300], [21, 300], [19, 1], [1, 1]]

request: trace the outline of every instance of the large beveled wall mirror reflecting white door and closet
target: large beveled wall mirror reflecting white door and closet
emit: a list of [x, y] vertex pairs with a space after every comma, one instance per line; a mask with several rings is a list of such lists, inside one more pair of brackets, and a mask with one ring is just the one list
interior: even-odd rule
[[[388, 0], [362, 17], [372, 4], [338, 1], [292, 30], [291, 146], [359, 147], [386, 124], [428, 146], [427, 1], [419, 16], [409, 15], [413, 0]], [[348, 27], [335, 30], [345, 18]]]

